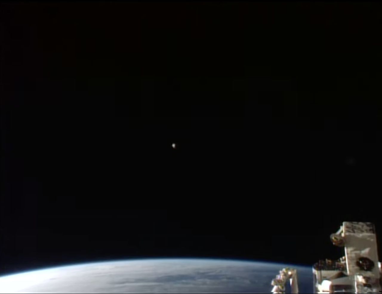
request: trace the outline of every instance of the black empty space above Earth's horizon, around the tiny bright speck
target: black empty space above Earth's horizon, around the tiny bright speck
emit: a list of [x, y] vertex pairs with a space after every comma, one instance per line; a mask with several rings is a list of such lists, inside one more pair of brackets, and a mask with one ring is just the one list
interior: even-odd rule
[[0, 274], [311, 265], [341, 256], [342, 221], [373, 221], [381, 245], [381, 16], [377, 2], [1, 3]]

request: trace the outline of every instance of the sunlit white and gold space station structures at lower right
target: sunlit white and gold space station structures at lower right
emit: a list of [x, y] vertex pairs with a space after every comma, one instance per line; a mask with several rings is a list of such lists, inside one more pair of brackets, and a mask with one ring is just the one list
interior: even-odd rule
[[[334, 245], [344, 247], [345, 256], [313, 265], [313, 292], [382, 293], [374, 224], [345, 221], [330, 239]], [[297, 271], [290, 268], [284, 268], [272, 280], [272, 293], [285, 293], [288, 280], [291, 293], [298, 293]]]

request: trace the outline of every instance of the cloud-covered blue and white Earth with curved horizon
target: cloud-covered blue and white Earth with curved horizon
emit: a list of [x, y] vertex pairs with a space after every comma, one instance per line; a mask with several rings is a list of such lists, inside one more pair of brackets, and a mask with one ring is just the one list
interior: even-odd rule
[[0, 293], [270, 293], [283, 267], [312, 292], [311, 268], [227, 258], [136, 258], [76, 263], [0, 276]]

